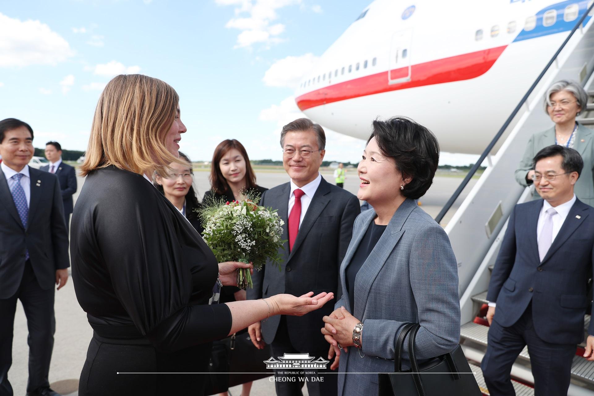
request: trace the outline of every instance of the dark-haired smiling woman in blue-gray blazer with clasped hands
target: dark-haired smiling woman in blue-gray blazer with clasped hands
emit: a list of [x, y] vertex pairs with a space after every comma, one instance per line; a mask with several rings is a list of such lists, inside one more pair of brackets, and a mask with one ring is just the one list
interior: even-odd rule
[[[456, 258], [444, 230], [415, 204], [431, 186], [439, 152], [435, 136], [418, 123], [373, 122], [357, 168], [357, 197], [373, 208], [355, 220], [340, 266], [342, 298], [321, 329], [329, 359], [336, 353], [339, 360], [341, 396], [377, 395], [377, 373], [393, 372], [394, 340], [407, 322], [421, 324], [417, 359], [459, 342]], [[407, 346], [404, 356], [407, 368]]]

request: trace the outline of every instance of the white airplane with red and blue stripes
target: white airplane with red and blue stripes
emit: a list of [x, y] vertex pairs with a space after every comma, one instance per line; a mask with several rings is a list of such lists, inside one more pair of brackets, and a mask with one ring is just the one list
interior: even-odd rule
[[375, 0], [302, 78], [296, 103], [341, 134], [366, 139], [375, 118], [407, 116], [441, 150], [481, 154], [592, 1]]

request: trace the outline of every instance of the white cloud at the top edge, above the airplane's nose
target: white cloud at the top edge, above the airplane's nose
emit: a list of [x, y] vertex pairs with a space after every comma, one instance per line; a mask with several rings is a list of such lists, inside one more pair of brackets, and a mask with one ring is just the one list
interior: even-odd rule
[[[251, 48], [256, 43], [270, 46], [283, 42], [275, 36], [285, 31], [285, 25], [270, 23], [279, 17], [277, 9], [301, 4], [301, 0], [216, 0], [216, 4], [236, 6], [237, 17], [229, 20], [225, 27], [242, 30], [237, 36], [235, 48]], [[249, 16], [243, 15], [245, 13]]]

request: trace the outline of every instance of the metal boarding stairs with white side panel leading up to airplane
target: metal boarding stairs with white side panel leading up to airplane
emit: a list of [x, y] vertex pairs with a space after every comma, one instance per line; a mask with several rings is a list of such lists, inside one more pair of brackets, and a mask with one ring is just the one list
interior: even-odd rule
[[[444, 226], [456, 254], [459, 269], [462, 313], [460, 344], [485, 395], [489, 395], [489, 392], [482, 377], [480, 363], [486, 351], [489, 330], [485, 319], [488, 309], [486, 290], [511, 210], [517, 203], [530, 199], [530, 188], [522, 188], [516, 183], [514, 171], [522, 159], [530, 136], [551, 126], [551, 120], [543, 109], [548, 87], [555, 81], [563, 79], [579, 81], [583, 84], [590, 94], [590, 100], [586, 111], [582, 112], [578, 121], [590, 128], [594, 127], [594, 18], [591, 18], [594, 14], [593, 9], [594, 5], [587, 10], [589, 14], [580, 14], [582, 18], [568, 34], [551, 62], [530, 87], [510, 118], [485, 149], [481, 159], [470, 170], [460, 188], [435, 219], [441, 222], [464, 190], [468, 180], [486, 160], [488, 167], [485, 172], [448, 224]], [[493, 147], [502, 137], [504, 142], [500, 149], [496, 154], [491, 155]], [[587, 329], [590, 322], [589, 315], [586, 315], [585, 322]], [[571, 368], [571, 385], [568, 389], [570, 396], [594, 396], [594, 362], [589, 362], [580, 356], [583, 354], [583, 347], [584, 344], [576, 346], [576, 356]], [[534, 378], [530, 370], [530, 356], [527, 348], [520, 353], [514, 363], [511, 376], [516, 395], [534, 394]]]

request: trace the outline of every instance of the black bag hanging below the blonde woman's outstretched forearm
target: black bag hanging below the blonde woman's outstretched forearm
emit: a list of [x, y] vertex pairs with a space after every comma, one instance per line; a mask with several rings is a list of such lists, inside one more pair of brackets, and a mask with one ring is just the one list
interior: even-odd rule
[[226, 392], [235, 385], [274, 375], [274, 371], [267, 369], [264, 363], [270, 356], [270, 346], [257, 349], [247, 332], [235, 333], [223, 340], [214, 341], [208, 365], [210, 374], [206, 380], [204, 394]]

